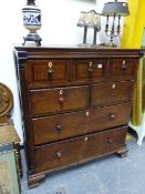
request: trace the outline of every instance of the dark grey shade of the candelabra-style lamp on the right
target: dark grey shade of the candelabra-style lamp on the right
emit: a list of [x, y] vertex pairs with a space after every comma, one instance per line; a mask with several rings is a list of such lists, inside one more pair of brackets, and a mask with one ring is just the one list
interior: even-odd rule
[[121, 17], [126, 17], [130, 14], [128, 11], [128, 6], [126, 2], [106, 2], [104, 4], [102, 16], [104, 17], [114, 17], [115, 16], [121, 16]]

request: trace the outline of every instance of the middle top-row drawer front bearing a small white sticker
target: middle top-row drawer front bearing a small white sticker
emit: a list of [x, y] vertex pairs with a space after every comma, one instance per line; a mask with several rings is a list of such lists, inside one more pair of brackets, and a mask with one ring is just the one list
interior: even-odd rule
[[73, 82], [100, 82], [106, 78], [106, 60], [77, 59], [73, 60]]

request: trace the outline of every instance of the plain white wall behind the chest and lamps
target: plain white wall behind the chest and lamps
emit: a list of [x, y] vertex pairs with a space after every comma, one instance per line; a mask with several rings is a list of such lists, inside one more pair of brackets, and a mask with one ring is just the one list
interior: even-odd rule
[[[35, 4], [42, 11], [42, 28], [38, 31], [42, 44], [79, 44], [83, 40], [83, 29], [76, 27], [80, 12], [94, 9], [102, 12], [106, 0], [37, 0]], [[17, 89], [17, 78], [12, 49], [14, 43], [22, 43], [28, 31], [22, 24], [22, 8], [27, 0], [1, 1], [0, 6], [0, 82], [7, 84], [12, 93], [14, 106], [12, 119], [15, 130], [23, 143], [22, 122]], [[102, 19], [102, 31], [97, 35], [97, 43], [107, 42], [104, 34], [105, 18]], [[93, 41], [93, 30], [89, 30], [87, 43]], [[120, 41], [121, 37], [118, 37]]]

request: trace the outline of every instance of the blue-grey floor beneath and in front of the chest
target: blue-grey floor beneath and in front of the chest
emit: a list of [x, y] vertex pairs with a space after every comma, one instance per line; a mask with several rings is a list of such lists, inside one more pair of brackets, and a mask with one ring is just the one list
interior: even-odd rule
[[[24, 174], [21, 180], [22, 194], [144, 194], [145, 140], [138, 146], [132, 136], [127, 147], [127, 157], [112, 154], [50, 174], [32, 190], [28, 190]], [[22, 163], [25, 170], [24, 160]]]

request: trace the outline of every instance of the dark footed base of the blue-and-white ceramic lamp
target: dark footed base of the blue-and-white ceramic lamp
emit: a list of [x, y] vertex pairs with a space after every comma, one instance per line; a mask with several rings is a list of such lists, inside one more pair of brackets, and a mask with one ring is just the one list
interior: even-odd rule
[[35, 32], [30, 32], [27, 37], [23, 37], [23, 40], [24, 40], [23, 45], [25, 44], [27, 41], [34, 42], [37, 45], [41, 45], [41, 41], [42, 41], [40, 35]]

